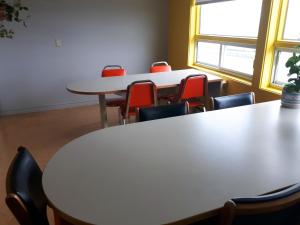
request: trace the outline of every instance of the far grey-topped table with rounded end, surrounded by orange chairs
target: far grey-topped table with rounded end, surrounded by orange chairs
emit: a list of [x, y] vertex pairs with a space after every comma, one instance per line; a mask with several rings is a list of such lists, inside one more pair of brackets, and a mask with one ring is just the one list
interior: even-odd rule
[[158, 89], [176, 87], [180, 81], [193, 74], [206, 74], [209, 82], [211, 95], [220, 95], [222, 79], [220, 77], [209, 75], [199, 70], [186, 69], [175, 70], [171, 72], [162, 73], [145, 73], [126, 75], [121, 77], [98, 77], [94, 80], [79, 81], [67, 84], [67, 90], [75, 94], [83, 95], [98, 95], [100, 106], [101, 127], [107, 126], [107, 112], [105, 104], [105, 94], [114, 94], [120, 91], [126, 91], [127, 86], [137, 80], [152, 80]]

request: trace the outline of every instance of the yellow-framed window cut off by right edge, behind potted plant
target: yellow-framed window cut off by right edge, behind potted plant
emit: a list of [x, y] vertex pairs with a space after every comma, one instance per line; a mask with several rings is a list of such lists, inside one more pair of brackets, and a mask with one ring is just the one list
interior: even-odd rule
[[[299, 0], [282, 2], [277, 38], [274, 42], [274, 63], [270, 86], [282, 86], [288, 81], [285, 63], [294, 47], [300, 45]], [[280, 27], [281, 26], [281, 27]]]

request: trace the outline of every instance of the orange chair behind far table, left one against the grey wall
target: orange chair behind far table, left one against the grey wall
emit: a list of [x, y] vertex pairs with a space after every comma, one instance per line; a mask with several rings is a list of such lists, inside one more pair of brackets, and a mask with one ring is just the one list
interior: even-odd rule
[[[108, 65], [105, 66], [102, 70], [102, 77], [117, 77], [117, 76], [125, 76], [126, 70], [119, 65]], [[106, 100], [106, 105], [108, 107], [120, 107], [125, 102], [124, 97], [120, 97], [118, 95], [112, 94], [110, 95], [111, 99]]]

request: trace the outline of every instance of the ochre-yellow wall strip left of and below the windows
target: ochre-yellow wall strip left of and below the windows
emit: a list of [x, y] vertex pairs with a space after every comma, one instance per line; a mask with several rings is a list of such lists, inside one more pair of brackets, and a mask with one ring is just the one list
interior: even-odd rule
[[[174, 69], [183, 69], [188, 66], [188, 42], [190, 22], [190, 0], [168, 0], [169, 4], [169, 46], [168, 61]], [[264, 19], [262, 19], [262, 23]], [[264, 46], [257, 46], [263, 48]], [[259, 63], [260, 64], [260, 63]], [[244, 84], [224, 78], [228, 81], [226, 94], [236, 94], [254, 91], [257, 102], [279, 99], [273, 94], [259, 89], [260, 74], [253, 75], [253, 83]]]

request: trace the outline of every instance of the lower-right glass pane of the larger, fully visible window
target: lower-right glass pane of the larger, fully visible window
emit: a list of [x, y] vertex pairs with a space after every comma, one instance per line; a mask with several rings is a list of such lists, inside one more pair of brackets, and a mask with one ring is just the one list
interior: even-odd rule
[[223, 45], [221, 67], [224, 69], [253, 75], [254, 58], [254, 48]]

